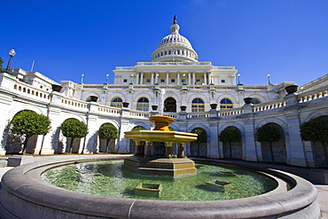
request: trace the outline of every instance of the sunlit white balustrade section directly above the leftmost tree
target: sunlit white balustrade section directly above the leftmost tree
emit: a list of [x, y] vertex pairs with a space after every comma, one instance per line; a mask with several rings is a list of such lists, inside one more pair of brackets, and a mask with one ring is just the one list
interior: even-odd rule
[[51, 99], [51, 93], [49, 91], [36, 89], [35, 87], [24, 83], [24, 82], [16, 82], [13, 86], [14, 90], [17, 90], [20, 94], [30, 98], [41, 98], [44, 101], [49, 102]]

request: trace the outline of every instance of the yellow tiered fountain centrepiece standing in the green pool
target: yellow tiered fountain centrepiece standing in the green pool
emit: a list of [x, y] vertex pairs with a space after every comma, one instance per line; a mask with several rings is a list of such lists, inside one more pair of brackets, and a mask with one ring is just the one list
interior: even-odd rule
[[[123, 168], [131, 172], [149, 175], [185, 176], [195, 175], [195, 163], [184, 156], [185, 143], [197, 139], [197, 134], [169, 131], [168, 124], [175, 121], [168, 116], [152, 116], [153, 130], [124, 132], [125, 137], [136, 142], [133, 157], [124, 160]], [[172, 154], [172, 143], [178, 145], [177, 154]]]

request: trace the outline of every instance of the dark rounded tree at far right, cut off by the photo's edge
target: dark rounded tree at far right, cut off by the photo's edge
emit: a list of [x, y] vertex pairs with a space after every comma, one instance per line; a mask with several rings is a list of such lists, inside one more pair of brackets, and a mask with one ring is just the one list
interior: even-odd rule
[[320, 142], [324, 147], [324, 158], [328, 167], [328, 119], [310, 119], [300, 126], [303, 141]]

